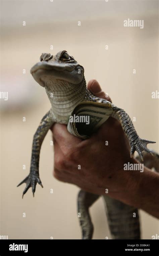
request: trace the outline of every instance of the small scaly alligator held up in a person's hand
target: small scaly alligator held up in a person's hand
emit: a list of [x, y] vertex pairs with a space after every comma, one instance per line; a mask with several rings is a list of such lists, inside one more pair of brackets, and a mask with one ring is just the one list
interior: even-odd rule
[[[32, 67], [31, 74], [38, 84], [45, 87], [51, 102], [51, 109], [41, 120], [33, 138], [30, 173], [19, 183], [19, 185], [26, 183], [23, 195], [32, 187], [34, 196], [36, 184], [39, 183], [42, 186], [42, 182], [39, 178], [39, 155], [44, 137], [51, 126], [54, 123], [67, 125], [74, 107], [80, 102], [93, 101], [104, 104], [108, 103], [108, 101], [95, 97], [86, 88], [83, 66], [79, 65], [73, 56], [69, 56], [66, 51], [58, 52], [55, 56], [49, 53], [43, 53], [40, 57], [40, 62]], [[148, 167], [151, 165], [152, 167], [153, 162], [158, 161], [154, 160], [157, 159], [158, 155], [154, 154], [153, 156], [152, 152], [147, 148], [147, 144], [155, 142], [141, 139], [126, 112], [114, 104], [110, 104], [113, 110], [111, 116], [120, 121], [123, 131], [127, 136], [131, 156], [137, 151], [141, 160], [145, 160], [145, 165]], [[143, 154], [142, 151], [145, 151], [145, 153]], [[148, 156], [151, 156], [151, 161], [146, 161]], [[158, 169], [156, 170], [158, 171]], [[89, 214], [89, 207], [98, 198], [98, 195], [90, 194], [83, 190], [78, 194], [77, 203], [78, 212], [81, 213], [81, 218], [79, 219], [83, 239], [92, 238], [93, 224]], [[103, 196], [103, 198], [112, 238], [140, 238], [138, 210], [133, 206], [128, 206], [108, 196]], [[136, 218], [132, 218], [132, 213], [136, 213]]]

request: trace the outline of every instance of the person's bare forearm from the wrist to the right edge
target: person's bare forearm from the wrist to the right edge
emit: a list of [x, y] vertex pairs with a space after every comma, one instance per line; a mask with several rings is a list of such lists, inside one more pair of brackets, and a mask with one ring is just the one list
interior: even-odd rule
[[[134, 163], [139, 163], [135, 159]], [[124, 171], [124, 170], [123, 170]], [[144, 171], [127, 171], [126, 189], [111, 196], [159, 218], [159, 174], [144, 166]]]

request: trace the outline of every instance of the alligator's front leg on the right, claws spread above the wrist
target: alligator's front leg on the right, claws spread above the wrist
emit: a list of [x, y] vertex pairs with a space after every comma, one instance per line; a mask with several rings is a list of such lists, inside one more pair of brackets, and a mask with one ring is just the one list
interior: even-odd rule
[[134, 152], [137, 151], [141, 160], [143, 161], [143, 154], [142, 151], [145, 150], [146, 152], [153, 155], [153, 153], [147, 148], [148, 143], [156, 143], [155, 141], [141, 139], [137, 134], [135, 127], [128, 116], [128, 114], [121, 108], [116, 107], [115, 105], [111, 104], [113, 107], [113, 113], [111, 117], [118, 119], [122, 125], [123, 131], [126, 134], [129, 144], [130, 144], [130, 154], [133, 157]]

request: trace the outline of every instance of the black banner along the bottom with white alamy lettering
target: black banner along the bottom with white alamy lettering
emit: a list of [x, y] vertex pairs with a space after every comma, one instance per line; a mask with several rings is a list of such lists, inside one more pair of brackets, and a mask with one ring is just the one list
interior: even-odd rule
[[[18, 249], [18, 251], [17, 251]], [[39, 255], [52, 256], [62, 252], [69, 254], [86, 253], [86, 249], [98, 255], [151, 255], [159, 256], [159, 240], [0, 240], [0, 256]], [[25, 251], [25, 252], [24, 252]]]

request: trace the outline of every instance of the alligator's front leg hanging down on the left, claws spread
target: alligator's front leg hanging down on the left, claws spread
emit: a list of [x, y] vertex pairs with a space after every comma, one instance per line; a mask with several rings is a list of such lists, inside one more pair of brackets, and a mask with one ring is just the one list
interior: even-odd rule
[[39, 185], [41, 185], [41, 187], [43, 188], [43, 185], [39, 178], [40, 149], [41, 149], [42, 142], [43, 142], [48, 130], [53, 125], [53, 123], [54, 123], [54, 121], [52, 120], [51, 112], [49, 111], [41, 120], [40, 125], [39, 125], [36, 133], [34, 134], [30, 173], [22, 182], [20, 182], [18, 184], [18, 186], [20, 186], [23, 183], [27, 184], [23, 191], [22, 198], [23, 198], [23, 195], [28, 191], [28, 189], [30, 187], [32, 187], [32, 192], [33, 192], [33, 196], [34, 196], [37, 183], [39, 183]]

